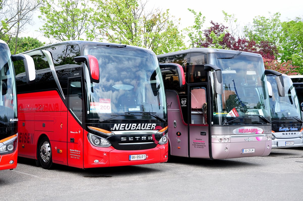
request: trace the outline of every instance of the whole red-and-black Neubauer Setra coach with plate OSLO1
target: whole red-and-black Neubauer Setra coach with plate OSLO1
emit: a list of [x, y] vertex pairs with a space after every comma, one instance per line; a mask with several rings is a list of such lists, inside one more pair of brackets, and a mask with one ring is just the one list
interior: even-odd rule
[[45, 169], [167, 161], [165, 90], [152, 51], [64, 41], [24, 54], [37, 78], [28, 85], [16, 76], [18, 156]]

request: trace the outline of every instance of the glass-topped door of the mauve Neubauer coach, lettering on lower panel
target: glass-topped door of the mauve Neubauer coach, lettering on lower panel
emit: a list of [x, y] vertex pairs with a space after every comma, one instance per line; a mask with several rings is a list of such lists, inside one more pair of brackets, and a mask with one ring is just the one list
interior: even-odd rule
[[209, 158], [207, 84], [188, 85], [189, 93], [189, 157]]

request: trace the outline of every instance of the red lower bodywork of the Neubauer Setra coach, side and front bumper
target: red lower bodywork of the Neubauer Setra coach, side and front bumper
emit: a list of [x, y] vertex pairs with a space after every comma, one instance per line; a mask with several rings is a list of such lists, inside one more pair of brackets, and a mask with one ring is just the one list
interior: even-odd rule
[[[38, 140], [47, 136], [52, 161], [78, 168], [162, 163], [168, 160], [168, 143], [147, 150], [116, 150], [95, 147], [88, 132], [67, 110], [58, 91], [18, 94], [18, 156], [37, 159]], [[74, 142], [71, 142], [71, 139]], [[129, 161], [129, 155], [146, 154], [147, 159]], [[94, 161], [98, 160], [98, 163]]]

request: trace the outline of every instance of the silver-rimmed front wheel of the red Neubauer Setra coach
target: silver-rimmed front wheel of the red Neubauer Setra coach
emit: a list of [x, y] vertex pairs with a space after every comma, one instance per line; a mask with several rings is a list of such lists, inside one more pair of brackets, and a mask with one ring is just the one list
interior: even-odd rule
[[49, 142], [47, 137], [43, 137], [40, 141], [38, 149], [38, 160], [40, 161], [40, 164], [42, 168], [44, 169], [51, 169], [52, 167], [52, 148], [51, 143]]

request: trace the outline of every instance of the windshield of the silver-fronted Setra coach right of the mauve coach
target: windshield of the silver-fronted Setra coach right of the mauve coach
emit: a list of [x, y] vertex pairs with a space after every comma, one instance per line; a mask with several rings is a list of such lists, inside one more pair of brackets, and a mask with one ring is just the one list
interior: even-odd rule
[[272, 120], [287, 117], [298, 117], [301, 119], [299, 100], [291, 79], [288, 76], [283, 75], [285, 97], [280, 97], [275, 81], [276, 76], [267, 75], [266, 77], [272, 87], [272, 97], [269, 100]]

